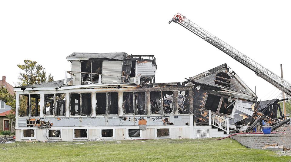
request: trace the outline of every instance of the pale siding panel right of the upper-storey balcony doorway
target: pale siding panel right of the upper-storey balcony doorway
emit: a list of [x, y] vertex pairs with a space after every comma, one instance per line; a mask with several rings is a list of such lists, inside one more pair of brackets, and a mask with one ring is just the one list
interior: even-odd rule
[[104, 60], [102, 62], [102, 83], [120, 83], [121, 72], [122, 61]]

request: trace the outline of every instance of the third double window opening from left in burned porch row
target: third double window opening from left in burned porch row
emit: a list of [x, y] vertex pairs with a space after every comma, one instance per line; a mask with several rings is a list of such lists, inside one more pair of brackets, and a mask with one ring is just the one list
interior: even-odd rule
[[70, 115], [91, 115], [91, 93], [70, 93]]

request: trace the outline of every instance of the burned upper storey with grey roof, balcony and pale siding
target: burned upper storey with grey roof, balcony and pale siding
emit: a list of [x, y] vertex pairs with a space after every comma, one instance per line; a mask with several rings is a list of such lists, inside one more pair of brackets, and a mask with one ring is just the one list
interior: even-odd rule
[[145, 84], [152, 82], [156, 73], [153, 55], [72, 53], [66, 59], [72, 63], [65, 75], [69, 85]]

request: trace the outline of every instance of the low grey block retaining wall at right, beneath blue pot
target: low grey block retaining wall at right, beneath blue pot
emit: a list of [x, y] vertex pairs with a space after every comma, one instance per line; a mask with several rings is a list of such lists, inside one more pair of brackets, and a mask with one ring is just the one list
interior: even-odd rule
[[291, 134], [236, 134], [231, 138], [249, 148], [262, 149], [266, 143], [291, 148]]

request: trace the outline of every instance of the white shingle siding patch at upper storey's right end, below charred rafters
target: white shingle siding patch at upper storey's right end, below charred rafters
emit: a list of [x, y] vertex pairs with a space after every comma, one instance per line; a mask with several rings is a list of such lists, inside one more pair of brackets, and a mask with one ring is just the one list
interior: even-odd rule
[[151, 62], [138, 63], [136, 62], [135, 74], [141, 74], [141, 76], [154, 76], [156, 72], [156, 66], [152, 66]]

